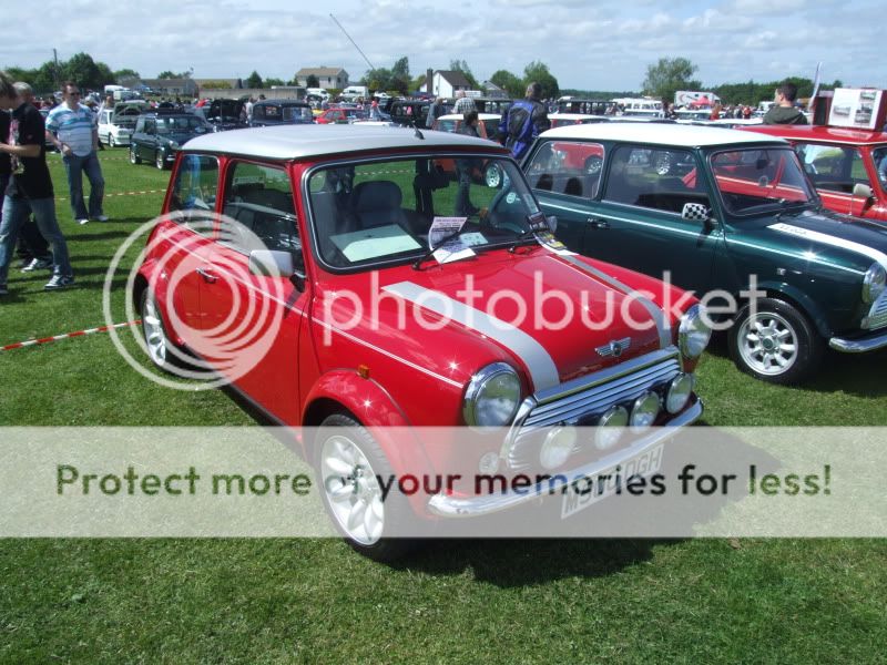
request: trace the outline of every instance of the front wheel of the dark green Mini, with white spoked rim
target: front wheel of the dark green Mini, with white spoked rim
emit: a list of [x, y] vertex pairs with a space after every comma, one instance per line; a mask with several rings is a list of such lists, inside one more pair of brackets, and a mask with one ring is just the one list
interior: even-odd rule
[[798, 383], [812, 376], [823, 340], [807, 317], [788, 303], [762, 298], [744, 307], [730, 330], [730, 356], [741, 370], [769, 383]]

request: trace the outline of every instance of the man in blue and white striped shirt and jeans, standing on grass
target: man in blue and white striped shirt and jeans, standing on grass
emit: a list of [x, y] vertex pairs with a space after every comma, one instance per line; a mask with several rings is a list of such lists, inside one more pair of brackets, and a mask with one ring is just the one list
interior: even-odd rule
[[[99, 126], [95, 114], [80, 104], [80, 89], [70, 81], [62, 85], [64, 102], [49, 112], [47, 137], [62, 153], [71, 194], [71, 211], [78, 224], [90, 219], [106, 222], [102, 212], [104, 177], [99, 164]], [[90, 181], [89, 212], [83, 201], [83, 173]]]

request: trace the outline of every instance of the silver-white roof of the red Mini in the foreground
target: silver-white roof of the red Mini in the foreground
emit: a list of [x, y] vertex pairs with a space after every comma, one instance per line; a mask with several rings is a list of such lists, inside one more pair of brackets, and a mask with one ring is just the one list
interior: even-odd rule
[[481, 146], [496, 149], [485, 139], [411, 127], [349, 125], [283, 125], [204, 134], [188, 141], [184, 152], [248, 155], [266, 160], [299, 160], [365, 150], [400, 150]]

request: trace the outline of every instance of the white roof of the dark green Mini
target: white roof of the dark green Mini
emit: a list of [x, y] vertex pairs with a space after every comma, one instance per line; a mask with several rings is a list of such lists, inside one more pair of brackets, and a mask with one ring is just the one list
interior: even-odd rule
[[[544, 139], [585, 139], [593, 141], [623, 141], [626, 143], [654, 143], [696, 147], [707, 145], [733, 145], [759, 143], [752, 132], [725, 127], [679, 125], [671, 123], [602, 122], [557, 127], [540, 134]], [[777, 143], [787, 143], [778, 141]]]

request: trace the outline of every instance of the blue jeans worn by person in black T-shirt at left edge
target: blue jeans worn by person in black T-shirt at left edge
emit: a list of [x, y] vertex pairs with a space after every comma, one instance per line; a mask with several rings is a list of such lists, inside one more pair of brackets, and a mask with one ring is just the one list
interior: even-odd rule
[[7, 283], [16, 238], [29, 214], [33, 214], [40, 234], [52, 247], [52, 263], [55, 264], [53, 274], [71, 277], [73, 272], [68, 256], [68, 243], [64, 242], [55, 219], [55, 200], [52, 196], [33, 200], [7, 196], [3, 201], [3, 218], [0, 221], [0, 284]]

